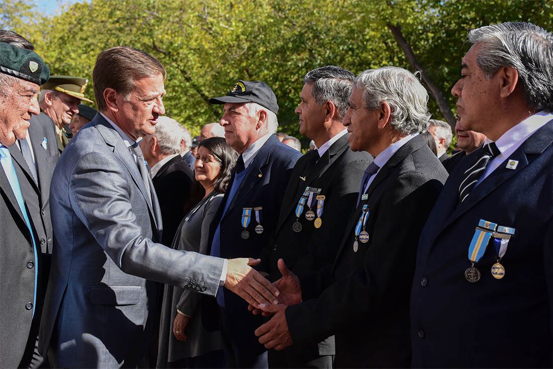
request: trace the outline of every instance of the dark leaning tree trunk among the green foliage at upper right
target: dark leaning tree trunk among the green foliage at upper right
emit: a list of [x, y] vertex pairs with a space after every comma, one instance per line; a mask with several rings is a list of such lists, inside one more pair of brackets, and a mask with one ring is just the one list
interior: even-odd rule
[[387, 26], [388, 26], [388, 29], [394, 35], [395, 40], [398, 41], [399, 47], [405, 53], [405, 56], [409, 61], [409, 64], [411, 64], [411, 66], [415, 70], [418, 70], [420, 72], [422, 76], [422, 80], [425, 82], [426, 86], [432, 93], [432, 97], [434, 97], [434, 100], [436, 100], [438, 108], [440, 109], [440, 112], [442, 113], [442, 115], [445, 117], [447, 123], [449, 123], [451, 128], [455, 130], [455, 117], [451, 112], [451, 109], [447, 103], [447, 100], [444, 97], [444, 94], [442, 93], [440, 88], [436, 86], [434, 81], [432, 81], [431, 77], [425, 72], [425, 70], [419, 64], [419, 61], [416, 59], [415, 53], [413, 53], [413, 50], [411, 49], [411, 45], [409, 45], [407, 40], [405, 40], [405, 37], [403, 37], [403, 33], [401, 33], [401, 29], [390, 23], [387, 23]]

